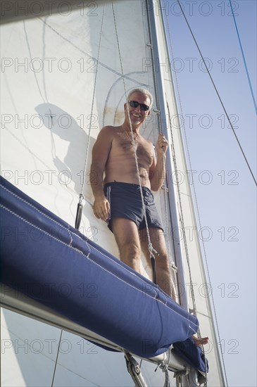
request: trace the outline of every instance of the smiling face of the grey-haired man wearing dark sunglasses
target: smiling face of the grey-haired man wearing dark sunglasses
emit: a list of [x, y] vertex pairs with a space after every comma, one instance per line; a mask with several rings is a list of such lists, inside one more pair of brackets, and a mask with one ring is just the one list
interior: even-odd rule
[[[138, 103], [143, 103], [146, 106], [150, 106], [150, 99], [145, 94], [141, 93], [133, 93], [130, 96], [130, 101], [136, 101]], [[146, 120], [146, 117], [150, 114], [149, 110], [144, 110], [142, 106], [138, 105], [137, 108], [130, 106], [130, 103], [128, 103], [128, 108], [130, 112], [130, 120], [132, 125], [141, 125], [144, 120]], [[127, 107], [125, 103], [125, 115], [127, 115]]]

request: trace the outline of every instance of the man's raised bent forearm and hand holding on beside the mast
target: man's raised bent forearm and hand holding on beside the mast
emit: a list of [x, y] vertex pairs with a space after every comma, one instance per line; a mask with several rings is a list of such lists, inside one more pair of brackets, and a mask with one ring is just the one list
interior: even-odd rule
[[163, 134], [159, 134], [157, 143], [156, 143], [156, 155], [153, 154], [153, 163], [149, 171], [149, 179], [151, 183], [152, 191], [159, 191], [163, 185], [163, 180], [165, 179], [165, 160], [166, 160], [166, 151], [168, 149], [168, 141], [165, 139]]

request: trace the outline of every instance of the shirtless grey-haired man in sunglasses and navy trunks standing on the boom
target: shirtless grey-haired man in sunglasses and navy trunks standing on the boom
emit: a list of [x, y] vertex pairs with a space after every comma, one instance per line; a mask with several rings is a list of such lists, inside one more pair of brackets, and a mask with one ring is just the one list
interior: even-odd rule
[[[139, 134], [153, 104], [153, 96], [149, 91], [134, 89], [128, 94], [127, 100], [124, 104], [123, 125], [103, 127], [93, 147], [90, 182], [95, 199], [94, 215], [108, 221], [123, 262], [140, 273], [142, 251], [150, 264], [131, 122], [149, 236], [153, 249], [158, 252], [158, 255], [154, 254], [156, 280], [165, 293], [175, 298], [161, 220], [151, 194], [151, 191], [161, 189], [163, 184], [168, 141], [160, 134], [155, 153], [153, 144]], [[208, 343], [208, 338], [192, 338], [196, 345]]]

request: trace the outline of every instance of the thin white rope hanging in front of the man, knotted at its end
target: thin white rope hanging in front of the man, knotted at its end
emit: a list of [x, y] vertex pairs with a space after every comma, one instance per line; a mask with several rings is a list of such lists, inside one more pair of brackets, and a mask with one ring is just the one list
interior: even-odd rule
[[119, 53], [119, 58], [120, 58], [120, 68], [121, 68], [121, 73], [122, 73], [122, 77], [123, 77], [123, 86], [124, 86], [124, 91], [125, 91], [127, 116], [128, 116], [129, 122], [130, 122], [130, 134], [131, 134], [131, 137], [132, 137], [132, 141], [131, 142], [132, 142], [132, 146], [133, 146], [134, 160], [135, 160], [136, 168], [137, 168], [137, 177], [138, 177], [138, 181], [139, 181], [139, 188], [140, 188], [140, 194], [141, 194], [142, 208], [143, 208], [143, 212], [144, 212], [144, 220], [145, 220], [145, 223], [146, 223], [146, 235], [147, 235], [147, 241], [148, 241], [148, 249], [149, 249], [150, 257], [155, 259], [153, 253], [157, 253], [157, 251], [154, 250], [153, 245], [151, 243], [148, 222], [147, 222], [147, 219], [146, 219], [146, 206], [144, 204], [143, 189], [142, 189], [140, 173], [139, 173], [139, 166], [138, 166], [138, 161], [137, 161], [137, 148], [136, 148], [136, 143], [134, 141], [134, 134], [133, 134], [133, 129], [132, 129], [132, 123], [131, 123], [131, 119], [130, 119], [130, 109], [129, 109], [128, 103], [127, 103], [127, 89], [126, 89], [126, 85], [125, 85], [125, 78], [124, 78], [124, 72], [123, 72], [123, 63], [122, 63], [121, 53], [120, 53], [120, 44], [119, 44], [119, 39], [118, 39], [118, 30], [117, 30], [117, 24], [116, 24], [116, 18], [115, 18], [115, 11], [114, 11], [113, 2], [112, 2], [112, 7], [113, 7], [113, 20], [114, 20], [114, 25], [115, 25], [115, 34], [116, 34], [117, 45], [118, 45], [118, 53]]

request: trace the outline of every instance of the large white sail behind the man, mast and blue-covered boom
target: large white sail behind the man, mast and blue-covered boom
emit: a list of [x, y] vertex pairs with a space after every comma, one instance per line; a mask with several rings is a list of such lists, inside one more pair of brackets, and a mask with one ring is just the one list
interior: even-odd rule
[[[168, 52], [161, 13], [152, 12], [151, 18], [156, 23], [158, 55], [162, 63]], [[170, 73], [164, 74], [161, 67], [163, 91], [161, 85], [158, 90], [155, 87], [153, 19], [149, 20], [144, 2], [116, 1], [112, 5], [107, 1], [94, 1], [87, 2], [87, 6], [74, 3], [57, 11], [44, 10], [44, 13], [38, 12], [36, 18], [18, 21], [14, 18], [1, 26], [4, 97], [1, 106], [1, 175], [69, 224], [75, 223], [84, 175], [86, 200], [80, 231], [117, 257], [113, 235], [92, 212], [93, 196], [89, 186], [91, 151], [102, 126], [122, 122], [125, 91], [134, 87], [145, 87], [156, 95], [151, 118], [142, 128], [144, 137], [153, 143], [159, 129], [156, 125], [158, 113], [154, 113], [159, 108], [158, 101], [166, 122], [169, 122], [166, 101], [170, 115], [177, 113]], [[171, 144], [170, 134], [167, 135]], [[179, 131], [173, 133], [173, 139], [177, 169], [185, 171], [187, 167]], [[170, 166], [174, 171], [173, 163]], [[168, 176], [171, 173], [168, 170]], [[172, 208], [173, 179], [170, 176], [168, 185], [169, 207]], [[195, 227], [187, 179], [180, 185], [180, 190], [185, 225]], [[180, 218], [179, 199], [175, 195], [176, 216]], [[156, 195], [156, 201], [170, 237], [170, 224], [174, 223], [171, 223], [170, 215], [166, 219], [166, 211], [161, 205], [164, 196], [165, 191], [161, 191]], [[173, 259], [175, 253], [184, 257], [183, 248], [176, 244], [173, 247], [172, 242], [170, 250]], [[206, 279], [199, 243], [195, 239], [189, 243], [189, 256], [192, 277], [200, 286]], [[179, 260], [178, 256], [177, 265]], [[151, 275], [145, 262], [143, 265], [145, 275]], [[186, 263], [184, 265], [187, 267]], [[209, 385], [222, 386], [208, 299], [200, 297], [196, 300], [196, 308], [201, 331], [211, 338], [214, 348], [208, 354]], [[6, 309], [2, 309], [1, 314], [1, 337], [4, 340], [1, 357], [5, 369], [1, 376], [2, 386], [48, 386], [53, 382], [53, 375], [54, 386], [84, 386], [85, 383], [87, 386], [132, 385], [123, 355], [107, 353], [75, 336], [74, 326], [67, 329], [73, 333], [63, 331], [58, 350], [61, 331], [42, 323], [42, 316], [41, 321], [37, 321]], [[149, 362], [142, 364], [149, 386], [164, 383], [163, 372], [160, 369], [154, 372], [155, 368]]]

